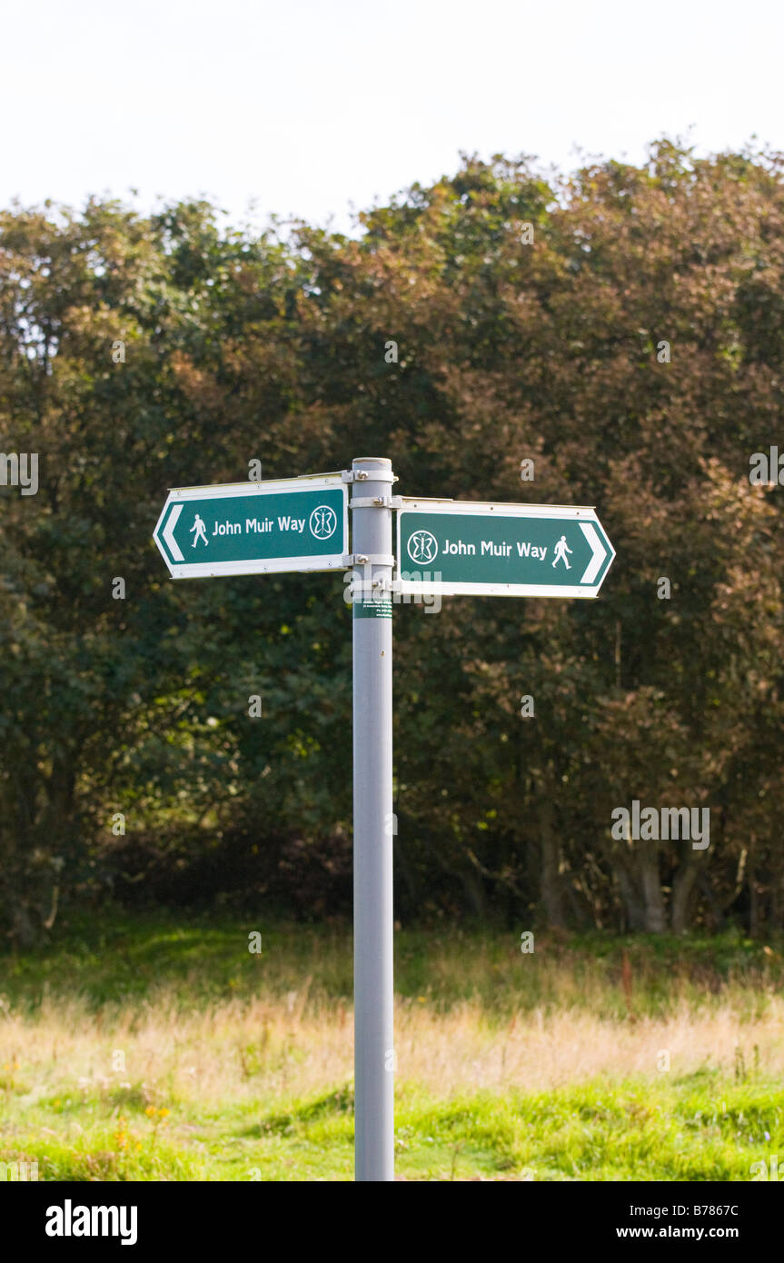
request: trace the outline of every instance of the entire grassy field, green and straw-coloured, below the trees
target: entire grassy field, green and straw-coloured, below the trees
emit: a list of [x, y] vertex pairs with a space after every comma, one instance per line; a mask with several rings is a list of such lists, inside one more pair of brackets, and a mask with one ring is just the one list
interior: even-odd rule
[[[0, 1161], [352, 1177], [347, 927], [74, 918], [0, 979]], [[783, 986], [731, 935], [399, 931], [398, 1177], [749, 1180], [784, 1153]]]

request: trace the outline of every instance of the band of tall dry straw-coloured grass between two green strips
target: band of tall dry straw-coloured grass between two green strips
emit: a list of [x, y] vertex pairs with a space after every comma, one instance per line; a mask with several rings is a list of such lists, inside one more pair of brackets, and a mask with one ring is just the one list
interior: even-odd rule
[[[487, 1013], [480, 1000], [437, 1012], [399, 1000], [398, 1080], [443, 1098], [458, 1090], [542, 1091], [596, 1076], [680, 1076], [701, 1067], [784, 1070], [784, 999], [730, 990], [706, 1005], [680, 999], [663, 1017], [607, 1018], [585, 1004]], [[352, 1013], [309, 994], [227, 999], [188, 1008], [160, 989], [95, 1012], [48, 997], [0, 1017], [0, 1065], [18, 1065], [28, 1101], [139, 1091], [149, 1100], [270, 1100], [330, 1091], [352, 1077]], [[667, 1056], [665, 1056], [667, 1055]]]

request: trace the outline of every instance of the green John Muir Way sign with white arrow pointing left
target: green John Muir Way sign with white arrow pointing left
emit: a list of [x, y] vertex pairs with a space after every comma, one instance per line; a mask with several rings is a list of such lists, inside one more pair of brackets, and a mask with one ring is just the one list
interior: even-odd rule
[[172, 578], [345, 570], [348, 488], [340, 474], [178, 488], [153, 538]]

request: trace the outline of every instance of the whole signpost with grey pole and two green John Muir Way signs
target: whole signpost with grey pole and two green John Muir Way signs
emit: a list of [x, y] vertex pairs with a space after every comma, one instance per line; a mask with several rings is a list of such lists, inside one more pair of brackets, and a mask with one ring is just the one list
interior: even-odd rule
[[393, 495], [395, 481], [389, 460], [367, 456], [337, 474], [179, 488], [169, 493], [153, 537], [173, 578], [318, 570], [352, 570], [360, 578], [352, 600], [360, 1181], [394, 1180], [393, 597], [593, 597], [615, 557], [591, 508], [422, 500]]

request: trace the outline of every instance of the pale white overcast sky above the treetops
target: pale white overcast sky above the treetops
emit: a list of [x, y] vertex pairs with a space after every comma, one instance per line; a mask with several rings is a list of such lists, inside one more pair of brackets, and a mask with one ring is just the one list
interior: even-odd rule
[[205, 196], [350, 231], [461, 150], [784, 150], [780, 0], [0, 0], [0, 206]]

